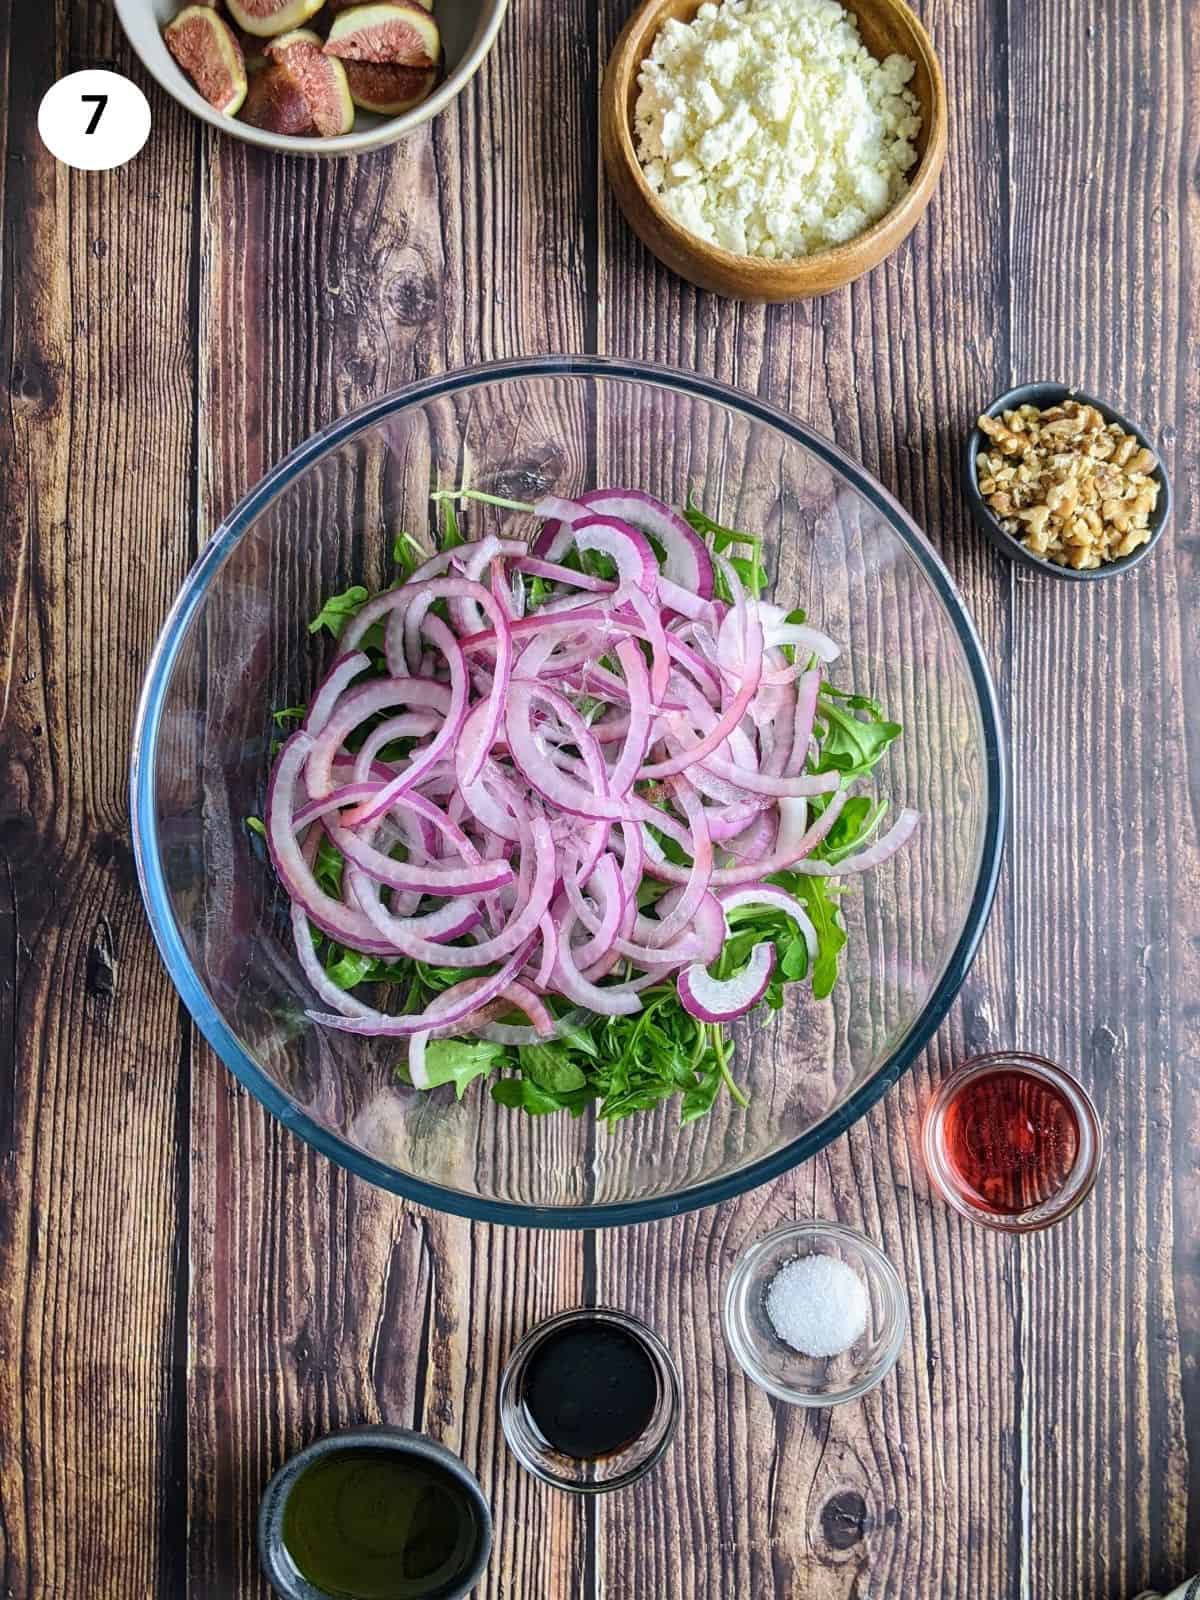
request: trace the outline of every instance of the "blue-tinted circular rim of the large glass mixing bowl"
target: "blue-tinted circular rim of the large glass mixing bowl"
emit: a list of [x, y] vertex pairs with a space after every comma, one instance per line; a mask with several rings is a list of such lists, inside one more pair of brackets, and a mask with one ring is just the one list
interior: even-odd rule
[[[398, 411], [421, 406], [430, 400], [445, 398], [462, 390], [469, 390], [488, 382], [504, 382], [512, 379], [536, 378], [598, 378], [616, 382], [648, 384], [659, 389], [709, 400], [717, 405], [765, 424], [784, 434], [794, 443], [808, 450], [826, 466], [840, 474], [858, 494], [874, 506], [888, 522], [893, 533], [907, 547], [917, 565], [925, 573], [933, 590], [946, 606], [946, 613], [958, 637], [958, 643], [966, 659], [966, 669], [974, 686], [984, 736], [984, 782], [987, 786], [987, 810], [984, 816], [984, 838], [979, 851], [979, 869], [976, 875], [971, 902], [966, 910], [962, 933], [950, 952], [941, 979], [917, 1014], [909, 1032], [893, 1050], [883, 1066], [862, 1083], [834, 1112], [824, 1117], [814, 1128], [808, 1128], [782, 1149], [763, 1155], [736, 1173], [709, 1178], [667, 1195], [650, 1195], [645, 1200], [614, 1200], [597, 1205], [570, 1206], [536, 1206], [522, 1205], [515, 1200], [493, 1200], [482, 1195], [459, 1192], [442, 1184], [427, 1182], [402, 1173], [397, 1168], [378, 1162], [363, 1150], [354, 1149], [339, 1134], [320, 1126], [306, 1112], [294, 1106], [288, 1096], [258, 1067], [238, 1043], [234, 1030], [213, 1005], [205, 986], [179, 934], [179, 928], [171, 910], [166, 891], [166, 880], [158, 850], [158, 822], [155, 816], [155, 778], [150, 755], [157, 746], [166, 688], [171, 682], [174, 666], [197, 610], [205, 600], [211, 584], [232, 554], [243, 533], [251, 523], [310, 466], [330, 451], [365, 432], [376, 422], [386, 421]], [[427, 1205], [435, 1211], [454, 1216], [466, 1216], [477, 1222], [507, 1222], [517, 1227], [614, 1227], [627, 1222], [651, 1222], [666, 1216], [678, 1216], [701, 1206], [715, 1205], [736, 1195], [757, 1189], [782, 1176], [794, 1166], [816, 1155], [851, 1123], [869, 1110], [886, 1090], [912, 1066], [920, 1051], [939, 1027], [949, 1011], [963, 979], [974, 960], [987, 915], [995, 898], [995, 886], [1000, 875], [1000, 858], [1003, 853], [1005, 819], [1008, 811], [1008, 774], [1005, 763], [1005, 738], [1000, 720], [1000, 707], [992, 683], [992, 674], [984, 658], [979, 635], [966, 610], [958, 589], [950, 578], [933, 544], [920, 531], [904, 507], [877, 483], [870, 474], [850, 459], [837, 445], [813, 432], [803, 422], [787, 416], [787, 413], [758, 400], [755, 395], [733, 389], [728, 384], [702, 378], [698, 373], [677, 371], [667, 366], [654, 366], [648, 362], [627, 362], [600, 355], [544, 355], [520, 360], [488, 362], [461, 368], [435, 378], [426, 378], [403, 389], [392, 390], [378, 400], [347, 411], [344, 416], [326, 424], [312, 434], [304, 443], [290, 451], [275, 467], [272, 467], [259, 483], [251, 488], [243, 499], [226, 515], [214, 530], [208, 544], [200, 550], [190, 571], [184, 578], [182, 587], [166, 614], [158, 634], [158, 640], [150, 654], [142, 691], [138, 701], [138, 712], [133, 728], [133, 752], [130, 763], [130, 818], [133, 832], [133, 853], [138, 864], [138, 882], [141, 885], [142, 902], [150, 923], [154, 941], [158, 946], [166, 973], [182, 997], [192, 1019], [205, 1035], [211, 1048], [229, 1067], [234, 1077], [259, 1099], [267, 1110], [298, 1134], [314, 1149], [347, 1171], [392, 1194], [403, 1195], [418, 1205]]]

